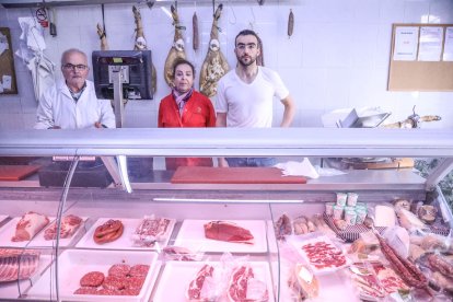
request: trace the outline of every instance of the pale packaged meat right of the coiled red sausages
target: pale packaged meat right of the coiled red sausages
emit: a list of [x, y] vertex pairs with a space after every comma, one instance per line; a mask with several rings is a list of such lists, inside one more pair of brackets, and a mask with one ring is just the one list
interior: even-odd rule
[[153, 246], [156, 241], [164, 239], [169, 225], [170, 219], [144, 217], [132, 234], [132, 240], [138, 246]]

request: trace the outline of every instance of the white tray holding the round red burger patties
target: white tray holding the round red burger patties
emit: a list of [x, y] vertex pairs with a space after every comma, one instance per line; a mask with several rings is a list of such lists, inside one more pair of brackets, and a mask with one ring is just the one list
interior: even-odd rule
[[[155, 272], [160, 265], [156, 263], [158, 254], [154, 252], [137, 251], [80, 251], [68, 249], [61, 253], [58, 266], [59, 295], [61, 300], [70, 301], [148, 301], [155, 281]], [[93, 295], [74, 294], [80, 288], [80, 279], [89, 271], [102, 271], [105, 276], [108, 268], [114, 264], [126, 263], [130, 266], [144, 264], [150, 270], [144, 280], [143, 287], [138, 295]], [[42, 278], [28, 291], [31, 299], [55, 300], [55, 265], [47, 269]], [[51, 286], [53, 284], [53, 288]], [[50, 290], [54, 297], [50, 297]]]

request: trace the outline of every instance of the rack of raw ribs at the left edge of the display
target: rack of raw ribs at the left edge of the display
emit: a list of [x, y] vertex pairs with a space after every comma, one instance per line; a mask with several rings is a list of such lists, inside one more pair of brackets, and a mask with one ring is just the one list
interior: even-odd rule
[[0, 282], [22, 280], [33, 276], [39, 264], [39, 252], [0, 249]]

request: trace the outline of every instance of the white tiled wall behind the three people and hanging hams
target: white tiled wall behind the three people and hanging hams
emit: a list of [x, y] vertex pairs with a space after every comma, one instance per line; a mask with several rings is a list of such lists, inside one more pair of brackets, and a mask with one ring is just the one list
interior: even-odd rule
[[[442, 116], [442, 121], [422, 127], [453, 127], [453, 92], [386, 91], [392, 23], [453, 23], [453, 0], [300, 0], [291, 4], [265, 1], [264, 7], [252, 0], [249, 5], [223, 2], [220, 40], [230, 66], [235, 65], [235, 35], [253, 26], [264, 40], [266, 66], [281, 74], [297, 101], [294, 127], [320, 127], [323, 114], [344, 107], [381, 106], [393, 113], [388, 121], [396, 121], [411, 114], [414, 105], [420, 115]], [[105, 5], [111, 49], [133, 48], [131, 5]], [[293, 36], [288, 38], [290, 8], [295, 25]], [[208, 48], [212, 8], [179, 4], [178, 11], [187, 27], [188, 59], [199, 71]], [[201, 37], [198, 53], [191, 49], [195, 11]], [[58, 36], [49, 36], [47, 30], [45, 36], [46, 54], [58, 63], [59, 70], [60, 54], [65, 49], [78, 47], [88, 54], [100, 49], [96, 23], [102, 22], [102, 13], [101, 5], [57, 8], [56, 12]], [[21, 34], [18, 18], [32, 14], [34, 11], [30, 9], [0, 9], [0, 26], [11, 28], [14, 50]], [[158, 93], [154, 101], [129, 102], [126, 127], [155, 127], [159, 100], [169, 93], [162, 73], [173, 42], [172, 21], [156, 7], [150, 10], [142, 4], [141, 14], [158, 70]], [[31, 128], [35, 120], [31, 76], [20, 59], [15, 59], [15, 70], [19, 95], [0, 96], [0, 128], [3, 129]], [[58, 77], [61, 77], [59, 71]], [[278, 103], [275, 113], [275, 124], [278, 124], [282, 115]]]

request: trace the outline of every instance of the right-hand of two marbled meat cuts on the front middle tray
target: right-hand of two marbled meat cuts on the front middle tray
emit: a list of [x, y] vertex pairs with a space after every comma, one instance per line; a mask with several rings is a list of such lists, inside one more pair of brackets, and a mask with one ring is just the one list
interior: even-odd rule
[[249, 265], [234, 269], [228, 288], [230, 301], [268, 301], [269, 293], [264, 282], [255, 279]]

